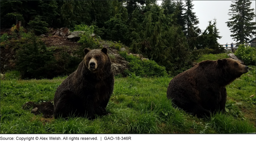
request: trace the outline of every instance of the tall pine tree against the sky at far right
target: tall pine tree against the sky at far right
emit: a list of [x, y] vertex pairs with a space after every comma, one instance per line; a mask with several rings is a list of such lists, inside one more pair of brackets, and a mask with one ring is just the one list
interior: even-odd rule
[[254, 9], [250, 9], [252, 2], [250, 0], [236, 0], [232, 1], [231, 9], [228, 12], [232, 16], [230, 21], [226, 22], [230, 31], [233, 33], [230, 36], [236, 39], [237, 43], [249, 41], [251, 36], [255, 36], [256, 22], [252, 22], [255, 17]]

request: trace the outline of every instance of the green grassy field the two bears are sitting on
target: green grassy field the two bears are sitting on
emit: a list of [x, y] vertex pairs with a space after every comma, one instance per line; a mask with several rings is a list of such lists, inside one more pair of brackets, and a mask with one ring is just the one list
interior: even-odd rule
[[22, 105], [28, 101], [52, 100], [66, 77], [52, 80], [10, 77], [14, 79], [1, 80], [0, 133], [255, 133], [255, 66], [250, 68], [252, 70], [247, 74], [226, 87], [227, 112], [211, 119], [198, 119], [173, 108], [166, 97], [171, 78], [136, 76], [115, 79], [107, 106], [111, 115], [95, 120], [44, 119], [42, 115], [35, 116], [29, 110], [23, 110]]

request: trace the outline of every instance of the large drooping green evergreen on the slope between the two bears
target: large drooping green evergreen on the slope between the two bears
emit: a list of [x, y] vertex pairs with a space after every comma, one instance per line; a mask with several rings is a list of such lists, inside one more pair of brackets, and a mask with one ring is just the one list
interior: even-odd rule
[[[165, 15], [164, 9], [152, 4], [143, 16], [142, 30], [136, 32], [130, 47], [134, 52], [153, 59], [159, 65], [173, 72], [185, 66], [190, 52], [187, 50], [186, 37], [180, 25], [172, 25], [173, 14]], [[135, 13], [134, 13], [135, 14]], [[168, 17], [169, 16], [169, 17]], [[137, 17], [137, 16], [136, 16]]]

